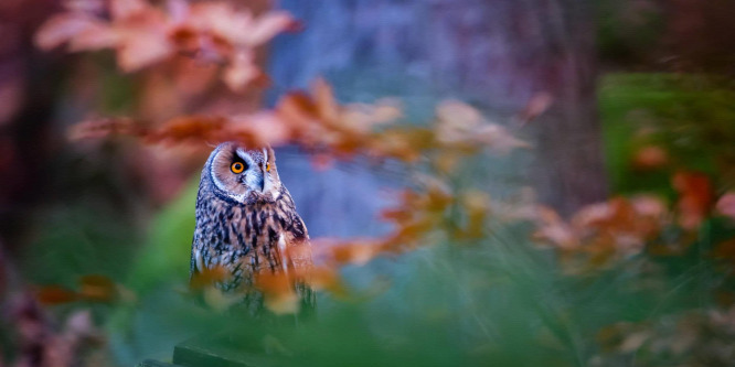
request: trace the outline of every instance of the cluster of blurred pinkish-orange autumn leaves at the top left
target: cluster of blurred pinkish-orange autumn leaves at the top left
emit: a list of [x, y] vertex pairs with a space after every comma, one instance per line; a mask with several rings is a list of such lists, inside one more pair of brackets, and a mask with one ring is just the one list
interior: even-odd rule
[[223, 65], [225, 84], [233, 91], [243, 91], [251, 83], [264, 79], [254, 48], [296, 29], [291, 15], [284, 11], [256, 17], [230, 2], [171, 0], [167, 6], [161, 9], [148, 0], [110, 0], [110, 19], [70, 6], [41, 26], [35, 42], [43, 50], [64, 43], [73, 52], [113, 48], [126, 73], [189, 54]]

